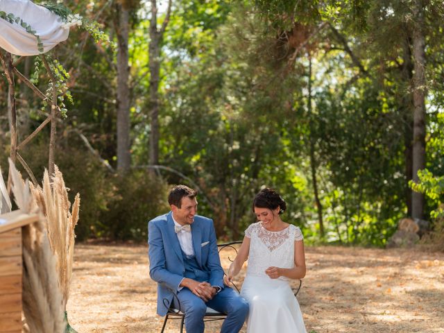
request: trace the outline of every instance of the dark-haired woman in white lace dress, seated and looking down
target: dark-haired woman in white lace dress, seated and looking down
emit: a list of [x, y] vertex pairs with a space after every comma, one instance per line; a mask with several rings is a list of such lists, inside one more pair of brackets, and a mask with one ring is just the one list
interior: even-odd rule
[[253, 200], [259, 222], [251, 224], [224, 282], [229, 285], [248, 258], [241, 296], [249, 305], [249, 333], [306, 333], [290, 279], [305, 277], [305, 253], [300, 228], [280, 218], [285, 201], [273, 189], [262, 189]]

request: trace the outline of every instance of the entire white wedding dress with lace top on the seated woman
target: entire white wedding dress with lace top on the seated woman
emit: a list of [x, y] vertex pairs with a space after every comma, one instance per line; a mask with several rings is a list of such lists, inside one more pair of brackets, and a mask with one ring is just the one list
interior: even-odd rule
[[253, 223], [245, 231], [250, 238], [248, 268], [241, 296], [248, 300], [248, 333], [306, 333], [298, 300], [284, 277], [271, 279], [270, 266], [294, 267], [294, 243], [302, 241], [300, 228], [271, 232], [262, 223]]

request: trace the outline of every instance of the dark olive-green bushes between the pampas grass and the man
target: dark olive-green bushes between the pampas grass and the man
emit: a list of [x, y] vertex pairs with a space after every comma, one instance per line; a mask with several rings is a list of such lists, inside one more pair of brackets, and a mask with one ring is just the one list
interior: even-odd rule
[[[0, 144], [5, 146], [3, 139]], [[48, 142], [42, 137], [32, 149], [22, 152], [37, 180], [43, 178], [47, 150]], [[3, 151], [0, 158], [7, 161], [7, 152]], [[7, 170], [4, 164], [3, 171]], [[169, 211], [167, 184], [162, 179], [141, 170], [121, 176], [108, 173], [76, 137], [66, 137], [56, 148], [56, 164], [69, 187], [71, 203], [80, 193], [80, 219], [75, 230], [78, 240], [146, 241], [148, 221]], [[21, 169], [19, 164], [17, 167]], [[20, 171], [28, 178], [26, 171]]]

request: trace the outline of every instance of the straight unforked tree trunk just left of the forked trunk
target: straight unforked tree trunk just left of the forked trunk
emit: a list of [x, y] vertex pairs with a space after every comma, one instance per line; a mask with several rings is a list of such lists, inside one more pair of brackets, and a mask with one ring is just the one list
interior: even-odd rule
[[130, 13], [121, 3], [118, 5], [119, 26], [117, 27], [117, 169], [130, 169], [130, 88], [128, 78], [128, 34]]

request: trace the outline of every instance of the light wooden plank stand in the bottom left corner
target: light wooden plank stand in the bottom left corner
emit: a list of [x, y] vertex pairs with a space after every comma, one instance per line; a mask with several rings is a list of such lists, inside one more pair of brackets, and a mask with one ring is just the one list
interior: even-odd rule
[[0, 333], [22, 332], [22, 227], [37, 214], [0, 215]]

